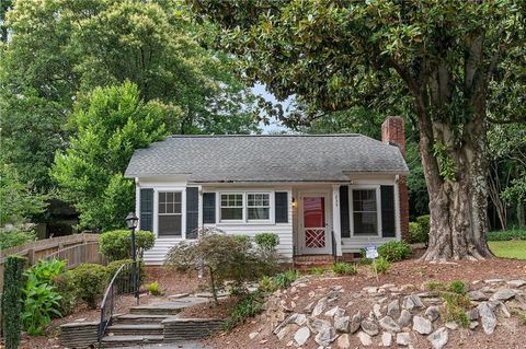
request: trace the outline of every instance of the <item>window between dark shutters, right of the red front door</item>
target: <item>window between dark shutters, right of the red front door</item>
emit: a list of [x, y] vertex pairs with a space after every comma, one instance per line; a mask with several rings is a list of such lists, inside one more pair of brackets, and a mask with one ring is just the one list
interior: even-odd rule
[[353, 189], [354, 235], [378, 235], [376, 189]]

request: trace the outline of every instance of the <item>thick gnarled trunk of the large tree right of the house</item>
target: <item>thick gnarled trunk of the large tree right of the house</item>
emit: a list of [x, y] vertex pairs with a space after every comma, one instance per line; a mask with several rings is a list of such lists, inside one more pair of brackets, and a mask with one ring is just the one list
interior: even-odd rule
[[[420, 153], [430, 194], [431, 231], [430, 244], [422, 258], [436, 261], [489, 258], [492, 254], [485, 242], [485, 120], [474, 117], [459, 136], [447, 124], [432, 123], [423, 106], [416, 105], [416, 109]], [[444, 174], [444, 163], [433, 152], [436, 142], [447, 148], [447, 158], [455, 168], [453, 177]]]

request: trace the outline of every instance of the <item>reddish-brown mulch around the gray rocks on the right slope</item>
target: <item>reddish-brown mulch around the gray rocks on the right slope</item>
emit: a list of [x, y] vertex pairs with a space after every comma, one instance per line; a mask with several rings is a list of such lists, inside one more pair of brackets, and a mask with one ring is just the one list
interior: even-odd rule
[[[374, 274], [370, 272], [368, 266], [362, 266], [357, 276], [352, 277], [331, 277], [330, 275], [315, 277], [307, 282], [306, 288], [298, 289], [299, 298], [297, 299], [297, 309], [305, 307], [312, 301], [308, 296], [311, 291], [328, 289], [335, 284], [344, 288], [348, 295], [353, 291], [361, 291], [364, 287], [379, 287], [385, 283], [414, 284], [421, 288], [428, 280], [439, 280], [442, 282], [450, 282], [453, 280], [462, 280], [471, 283], [476, 280], [484, 279], [526, 279], [526, 260], [514, 259], [489, 259], [483, 261], [458, 261], [451, 264], [431, 264], [420, 261], [418, 259], [403, 260], [392, 265], [391, 270], [387, 275], [376, 280]], [[359, 309], [359, 300], [354, 299], [356, 307]], [[251, 319], [242, 326], [238, 326], [228, 334], [220, 334], [207, 340], [207, 345], [218, 348], [283, 348], [284, 344], [279, 342], [276, 336], [272, 334], [261, 334], [258, 340], [251, 340], [249, 334], [259, 331], [262, 324], [258, 318]], [[376, 340], [376, 339], [375, 339]], [[505, 326], [498, 326], [493, 335], [470, 330], [458, 330], [450, 334], [450, 339], [446, 348], [477, 348], [477, 349], [512, 349], [526, 348], [526, 326], [511, 322]], [[428, 342], [422, 341], [420, 348], [428, 348]], [[356, 346], [358, 347], [358, 346]], [[318, 348], [312, 345], [311, 347]], [[354, 346], [353, 346], [354, 348]], [[369, 348], [380, 348], [371, 346]]]

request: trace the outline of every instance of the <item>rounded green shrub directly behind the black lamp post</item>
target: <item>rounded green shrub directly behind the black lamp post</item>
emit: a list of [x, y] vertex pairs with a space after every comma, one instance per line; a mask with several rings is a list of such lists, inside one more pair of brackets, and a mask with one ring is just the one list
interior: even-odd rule
[[[156, 235], [148, 231], [135, 232], [136, 253], [153, 247]], [[130, 259], [132, 258], [132, 232], [128, 230], [114, 230], [101, 234], [99, 239], [99, 248], [108, 260]]]

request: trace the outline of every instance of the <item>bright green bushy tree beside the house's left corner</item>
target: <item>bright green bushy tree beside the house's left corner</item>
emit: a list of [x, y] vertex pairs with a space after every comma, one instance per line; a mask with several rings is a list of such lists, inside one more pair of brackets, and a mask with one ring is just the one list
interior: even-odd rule
[[84, 228], [122, 228], [135, 205], [135, 184], [123, 173], [138, 148], [161, 140], [172, 108], [140, 100], [137, 85], [95, 89], [76, 105], [75, 137], [57, 152], [52, 176], [59, 196], [80, 212]]

